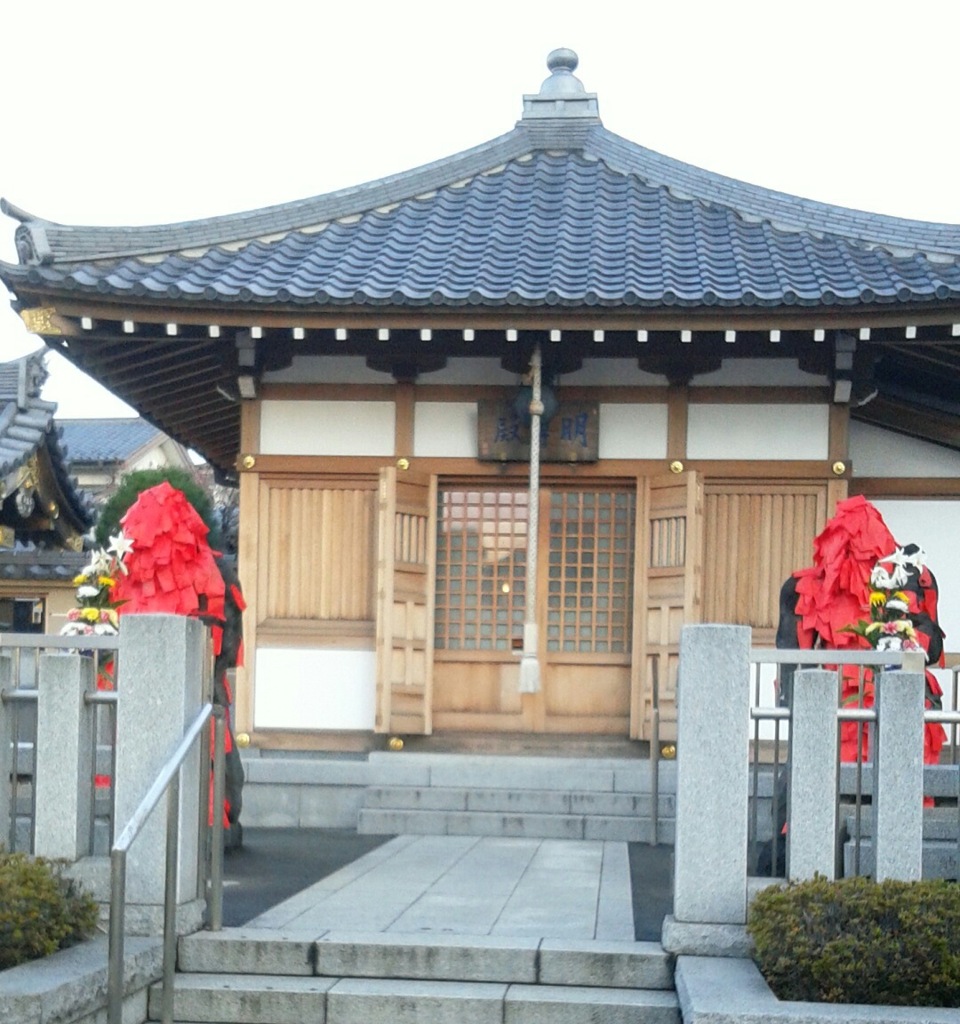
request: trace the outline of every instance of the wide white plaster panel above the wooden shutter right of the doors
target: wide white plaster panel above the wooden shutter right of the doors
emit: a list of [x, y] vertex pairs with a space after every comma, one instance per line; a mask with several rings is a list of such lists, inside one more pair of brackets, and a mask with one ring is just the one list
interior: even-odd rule
[[828, 406], [690, 407], [690, 459], [826, 459]]

